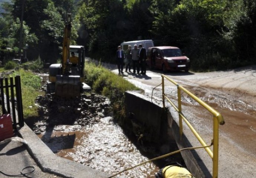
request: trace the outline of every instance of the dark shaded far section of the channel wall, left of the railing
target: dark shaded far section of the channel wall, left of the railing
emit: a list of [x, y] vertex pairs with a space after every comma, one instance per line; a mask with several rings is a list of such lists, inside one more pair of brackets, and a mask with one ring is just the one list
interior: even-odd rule
[[161, 123], [166, 121], [163, 108], [135, 91], [125, 92], [125, 106], [133, 132], [137, 135], [143, 134], [145, 141], [157, 142], [163, 132]]

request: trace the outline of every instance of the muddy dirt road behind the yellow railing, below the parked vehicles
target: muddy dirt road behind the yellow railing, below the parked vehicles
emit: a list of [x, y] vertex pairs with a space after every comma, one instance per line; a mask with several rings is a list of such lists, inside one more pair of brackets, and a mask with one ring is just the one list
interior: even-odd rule
[[[229, 71], [207, 73], [168, 72], [178, 84], [208, 103], [223, 115], [225, 125], [220, 126], [219, 177], [256, 177], [256, 66]], [[116, 69], [112, 71], [118, 73]], [[124, 73], [125, 79], [145, 90], [151, 97], [152, 89], [161, 83], [160, 70], [147, 71], [147, 75]], [[177, 98], [177, 87], [165, 80], [165, 93]], [[161, 86], [153, 97], [161, 104]], [[212, 129], [212, 117], [188, 96], [182, 94], [183, 112], [201, 134]]]

